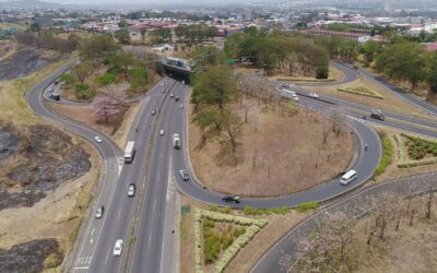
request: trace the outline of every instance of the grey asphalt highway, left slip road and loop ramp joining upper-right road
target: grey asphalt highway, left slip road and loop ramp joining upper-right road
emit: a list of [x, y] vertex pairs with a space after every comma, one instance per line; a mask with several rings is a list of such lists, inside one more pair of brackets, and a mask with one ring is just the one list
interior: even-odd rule
[[[182, 145], [181, 150], [173, 149], [173, 133], [179, 133], [181, 142], [188, 143], [186, 127], [188, 86], [165, 78], [141, 98], [141, 108], [128, 135], [128, 140], [135, 141], [137, 154], [132, 164], [123, 164], [122, 147], [118, 147], [110, 138], [54, 112], [44, 103], [47, 97], [43, 94], [47, 86], [68, 71], [73, 63], [70, 62], [55, 71], [26, 95], [31, 108], [37, 116], [91, 141], [103, 158], [102, 181], [95, 191], [87, 221], [74, 251], [71, 270], [73, 272], [175, 272], [177, 268], [173, 264], [178, 262], [178, 257], [177, 252], [175, 253], [177, 226], [174, 214], [175, 210], [179, 209], [175, 205], [176, 191], [199, 201], [231, 205], [222, 201], [223, 194], [203, 188], [196, 180], [186, 145]], [[357, 73], [362, 73], [412, 105], [430, 115], [437, 115], [436, 107], [381, 82], [373, 74], [363, 70], [355, 71], [342, 63], [334, 63], [334, 66], [345, 75], [340, 81], [341, 83], [351, 82], [357, 78]], [[277, 82], [271, 82], [271, 84], [279, 85]], [[437, 128], [435, 121], [390, 112], [385, 112], [388, 117], [386, 121], [363, 120], [363, 112], [368, 112], [369, 107], [328, 96], [315, 99], [299, 86], [292, 86], [291, 90], [299, 95], [299, 104], [303, 107], [321, 112], [329, 111], [333, 106], [344, 109], [349, 119], [347, 123], [359, 143], [356, 146], [353, 166], [351, 166], [357, 170], [358, 179], [347, 187], [341, 186], [338, 179], [333, 179], [292, 195], [245, 198], [240, 204], [232, 204], [233, 206], [294, 206], [306, 201], [329, 200], [365, 183], [373, 176], [381, 157], [379, 136], [369, 122], [437, 138], [437, 132], [433, 130]], [[169, 96], [170, 93], [177, 94], [180, 102], [175, 102]], [[180, 107], [181, 104], [182, 107]], [[156, 115], [151, 115], [152, 109], [157, 110]], [[158, 134], [162, 129], [165, 130], [164, 135]], [[102, 136], [102, 143], [94, 141], [95, 135]], [[364, 151], [364, 145], [368, 146], [367, 151]], [[189, 181], [180, 179], [180, 169], [190, 173]], [[137, 185], [138, 191], [134, 198], [127, 195], [129, 183]], [[106, 207], [101, 219], [94, 218], [94, 210], [97, 205]], [[113, 257], [113, 248], [117, 239], [125, 241], [121, 257]], [[265, 259], [264, 262], [258, 264], [263, 269], [270, 265], [274, 268], [273, 264], [269, 265], [272, 262], [275, 262], [275, 258]], [[253, 272], [263, 271], [253, 269]]]

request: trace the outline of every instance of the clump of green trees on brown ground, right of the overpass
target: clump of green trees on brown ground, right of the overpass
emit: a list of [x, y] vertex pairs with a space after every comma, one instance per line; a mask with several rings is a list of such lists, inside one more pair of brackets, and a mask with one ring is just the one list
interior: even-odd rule
[[329, 76], [327, 50], [300, 36], [248, 27], [245, 33], [229, 35], [224, 50], [227, 58], [250, 63], [268, 74]]

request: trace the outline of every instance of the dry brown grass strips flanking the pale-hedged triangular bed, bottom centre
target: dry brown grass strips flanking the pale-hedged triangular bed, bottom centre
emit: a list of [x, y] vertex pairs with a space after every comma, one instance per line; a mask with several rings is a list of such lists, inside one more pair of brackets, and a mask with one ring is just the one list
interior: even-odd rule
[[[181, 198], [181, 205], [190, 206], [190, 213], [181, 215], [180, 226], [180, 272], [190, 273], [194, 272], [194, 210], [204, 209], [209, 210], [209, 206], [204, 203], [200, 203], [185, 197]], [[243, 248], [237, 257], [228, 264], [225, 272], [248, 272], [251, 265], [262, 256], [262, 253], [277, 239], [280, 239], [284, 233], [297, 225], [302, 219], [308, 217], [311, 212], [297, 213], [291, 211], [285, 215], [244, 215], [241, 212], [234, 210], [232, 214], [239, 214], [247, 217], [260, 217], [268, 218], [269, 225], [267, 225], [260, 233], [258, 233], [253, 239]], [[220, 258], [218, 258], [220, 259]], [[213, 269], [213, 266], [209, 266]], [[205, 272], [213, 272], [205, 271]]]

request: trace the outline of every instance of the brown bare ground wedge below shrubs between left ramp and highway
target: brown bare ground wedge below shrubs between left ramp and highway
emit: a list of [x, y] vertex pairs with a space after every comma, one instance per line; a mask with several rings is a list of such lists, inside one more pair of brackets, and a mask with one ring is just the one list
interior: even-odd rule
[[50, 107], [57, 112], [104, 132], [105, 134], [111, 136], [113, 140], [121, 147], [125, 146], [130, 126], [133, 123], [140, 106], [140, 103], [131, 104], [118, 123], [116, 122], [106, 124], [95, 121], [93, 106], [60, 105], [50, 103]]

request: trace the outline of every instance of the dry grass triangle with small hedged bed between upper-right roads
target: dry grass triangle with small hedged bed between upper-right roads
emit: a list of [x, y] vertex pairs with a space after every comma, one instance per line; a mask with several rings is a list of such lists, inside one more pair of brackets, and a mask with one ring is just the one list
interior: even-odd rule
[[[383, 99], [336, 91], [338, 87], [347, 87], [347, 86], [357, 86], [357, 85], [364, 85], [370, 90], [378, 92], [380, 95], [383, 96]], [[363, 105], [367, 105], [367, 106], [375, 107], [375, 108], [381, 108], [387, 111], [392, 111], [392, 112], [400, 114], [400, 115], [415, 116], [415, 117], [426, 118], [426, 119], [435, 119], [429, 114], [427, 114], [416, 107], [413, 107], [412, 105], [402, 100], [400, 97], [391, 94], [390, 92], [383, 90], [382, 87], [380, 87], [365, 79], [358, 79], [352, 83], [344, 84], [344, 85], [311, 86], [311, 87], [304, 87], [304, 88], [306, 88], [308, 91], [315, 91], [320, 94], [326, 94], [326, 95], [329, 95], [332, 97], [338, 97], [343, 100], [363, 104]]]

